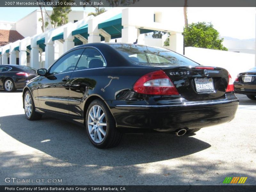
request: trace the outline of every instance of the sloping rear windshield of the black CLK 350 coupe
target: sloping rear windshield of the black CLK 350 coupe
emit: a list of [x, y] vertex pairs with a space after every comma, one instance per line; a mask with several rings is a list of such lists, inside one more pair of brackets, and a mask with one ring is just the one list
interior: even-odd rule
[[196, 62], [164, 48], [134, 44], [109, 44], [131, 62], [157, 67], [196, 66]]

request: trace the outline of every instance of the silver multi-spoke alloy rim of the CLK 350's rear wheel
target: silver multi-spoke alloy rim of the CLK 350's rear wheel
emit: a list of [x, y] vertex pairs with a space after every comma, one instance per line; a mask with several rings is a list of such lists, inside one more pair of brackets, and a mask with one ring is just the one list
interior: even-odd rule
[[105, 112], [99, 105], [93, 105], [90, 108], [87, 125], [92, 140], [95, 143], [101, 143], [106, 136], [107, 119]]

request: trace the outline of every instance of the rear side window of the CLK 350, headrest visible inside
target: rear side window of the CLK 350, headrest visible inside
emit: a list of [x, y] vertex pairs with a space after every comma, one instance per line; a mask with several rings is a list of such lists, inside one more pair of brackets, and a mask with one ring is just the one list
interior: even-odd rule
[[97, 49], [85, 48], [75, 70], [106, 67], [106, 62]]

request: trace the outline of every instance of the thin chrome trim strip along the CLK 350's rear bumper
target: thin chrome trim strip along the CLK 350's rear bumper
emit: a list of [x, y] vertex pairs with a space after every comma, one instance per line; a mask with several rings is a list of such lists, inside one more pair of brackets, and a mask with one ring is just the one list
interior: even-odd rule
[[206, 101], [206, 102], [198, 102], [198, 103], [183, 103], [183, 104], [177, 104], [177, 105], [116, 105], [115, 107], [180, 107], [180, 106], [194, 106], [194, 105], [207, 105], [207, 104], [220, 104], [220, 103], [231, 103], [234, 101], [239, 101], [238, 99], [233, 100], [219, 100], [219, 101]]

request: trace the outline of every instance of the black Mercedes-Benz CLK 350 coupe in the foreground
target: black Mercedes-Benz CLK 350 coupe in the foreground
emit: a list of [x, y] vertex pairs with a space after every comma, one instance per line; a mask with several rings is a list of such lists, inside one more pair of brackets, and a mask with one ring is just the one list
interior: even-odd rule
[[81, 123], [98, 148], [117, 145], [127, 128], [196, 132], [231, 121], [238, 107], [226, 69], [145, 45], [81, 45], [37, 74], [23, 90], [27, 119]]

